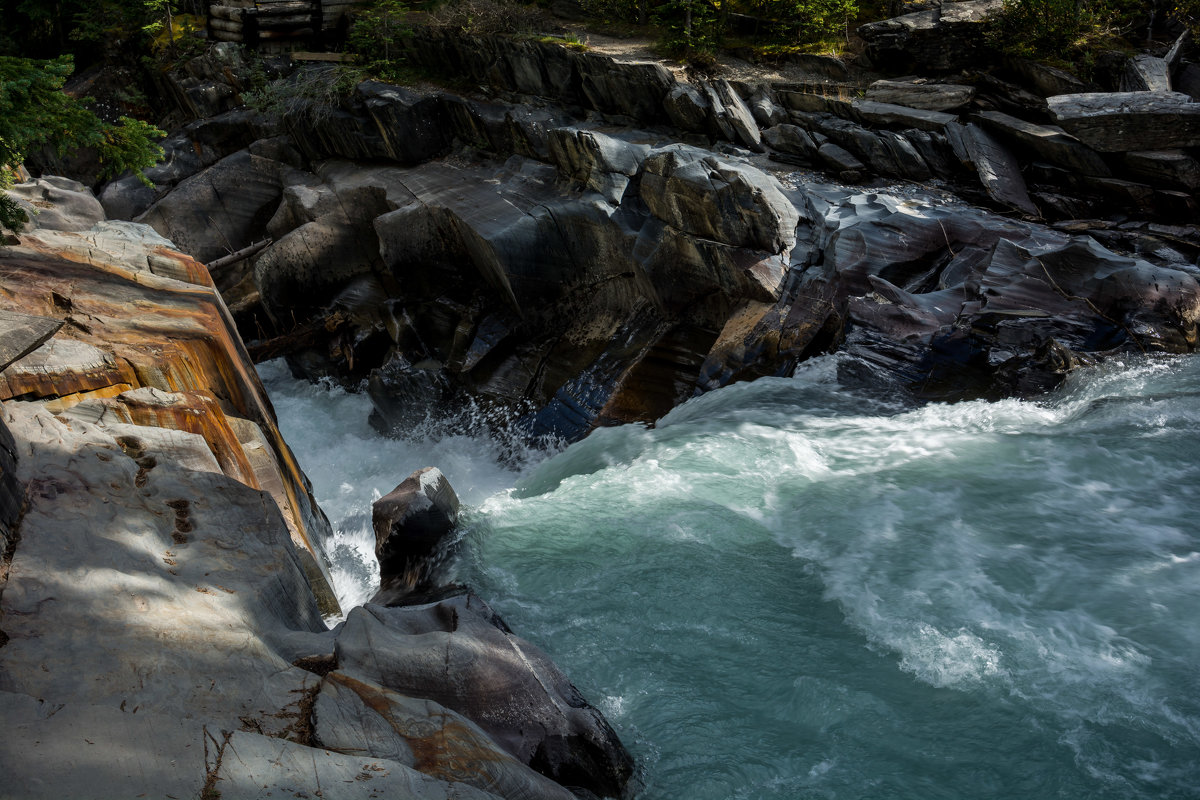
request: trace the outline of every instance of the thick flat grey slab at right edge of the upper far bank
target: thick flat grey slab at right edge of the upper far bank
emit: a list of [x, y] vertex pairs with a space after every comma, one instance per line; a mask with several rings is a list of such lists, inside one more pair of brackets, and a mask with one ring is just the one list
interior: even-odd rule
[[1046, 103], [1067, 133], [1098, 152], [1200, 145], [1200, 103], [1182, 92], [1058, 95]]

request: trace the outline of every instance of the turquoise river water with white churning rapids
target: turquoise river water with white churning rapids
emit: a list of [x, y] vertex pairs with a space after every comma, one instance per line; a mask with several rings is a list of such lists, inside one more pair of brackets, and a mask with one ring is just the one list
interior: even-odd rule
[[365, 397], [264, 377], [343, 602], [372, 499], [440, 467], [457, 578], [605, 712], [642, 800], [1200, 798], [1200, 359], [918, 409], [836, 359], [553, 453], [380, 439]]

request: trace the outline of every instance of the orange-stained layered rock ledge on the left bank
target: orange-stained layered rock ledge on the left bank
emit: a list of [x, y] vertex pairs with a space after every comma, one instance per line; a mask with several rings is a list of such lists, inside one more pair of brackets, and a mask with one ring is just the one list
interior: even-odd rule
[[[98, 401], [116, 421], [199, 434], [226, 475], [270, 492], [312, 555], [306, 572], [323, 610], [337, 610], [311, 530], [324, 517], [203, 264], [144, 225], [34, 230], [0, 247], [0, 311], [62, 321], [0, 372], [0, 401], [41, 401], [55, 414]], [[145, 389], [160, 395], [136, 391]]]

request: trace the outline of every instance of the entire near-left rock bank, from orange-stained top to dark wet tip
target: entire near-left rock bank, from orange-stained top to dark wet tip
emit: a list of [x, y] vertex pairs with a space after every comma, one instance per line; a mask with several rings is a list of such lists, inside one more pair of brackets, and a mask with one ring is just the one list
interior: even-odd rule
[[616, 734], [478, 599], [328, 630], [328, 523], [205, 267], [60, 216], [0, 247], [4, 795], [620, 795]]

